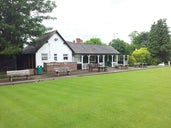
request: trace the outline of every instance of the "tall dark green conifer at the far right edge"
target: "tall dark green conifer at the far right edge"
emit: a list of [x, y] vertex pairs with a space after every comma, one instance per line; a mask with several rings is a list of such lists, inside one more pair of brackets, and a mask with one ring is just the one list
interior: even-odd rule
[[153, 57], [168, 61], [171, 53], [169, 28], [166, 19], [160, 19], [151, 26], [148, 37], [148, 49]]

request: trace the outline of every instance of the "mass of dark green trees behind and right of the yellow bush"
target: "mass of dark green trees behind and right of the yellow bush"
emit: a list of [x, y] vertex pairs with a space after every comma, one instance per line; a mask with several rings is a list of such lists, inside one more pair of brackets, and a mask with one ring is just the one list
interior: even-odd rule
[[151, 64], [166, 62], [171, 56], [171, 40], [166, 19], [160, 19], [151, 26], [150, 32], [133, 31], [130, 35], [132, 48], [148, 48], [151, 56]]

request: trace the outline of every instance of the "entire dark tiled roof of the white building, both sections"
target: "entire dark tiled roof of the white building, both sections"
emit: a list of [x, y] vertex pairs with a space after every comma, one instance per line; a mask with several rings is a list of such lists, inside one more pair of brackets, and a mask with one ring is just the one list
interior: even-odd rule
[[64, 43], [68, 45], [74, 54], [120, 54], [116, 49], [107, 45], [76, 44], [66, 42], [58, 31], [52, 31], [39, 37], [32, 45], [27, 46], [23, 50], [23, 54], [35, 54], [55, 33], [61, 37]]

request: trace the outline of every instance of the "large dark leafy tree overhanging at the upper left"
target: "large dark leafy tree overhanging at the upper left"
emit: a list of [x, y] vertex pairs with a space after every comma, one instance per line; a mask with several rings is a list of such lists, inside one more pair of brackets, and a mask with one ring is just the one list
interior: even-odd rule
[[51, 0], [0, 0], [0, 54], [19, 53], [29, 40], [48, 30], [42, 21], [56, 4]]

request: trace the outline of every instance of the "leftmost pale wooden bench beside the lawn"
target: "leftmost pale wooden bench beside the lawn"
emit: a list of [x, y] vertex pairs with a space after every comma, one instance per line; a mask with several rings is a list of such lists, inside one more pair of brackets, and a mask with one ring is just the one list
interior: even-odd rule
[[28, 77], [30, 76], [30, 70], [28, 70], [28, 69], [7, 71], [6, 73], [11, 82], [13, 81], [13, 77], [25, 76], [26, 79], [28, 79]]

